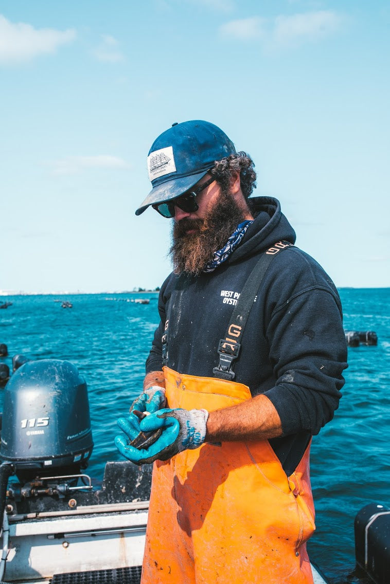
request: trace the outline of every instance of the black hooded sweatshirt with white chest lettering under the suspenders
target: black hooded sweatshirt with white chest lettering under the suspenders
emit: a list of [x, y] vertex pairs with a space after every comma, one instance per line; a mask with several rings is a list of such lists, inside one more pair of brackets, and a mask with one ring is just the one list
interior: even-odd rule
[[[168, 366], [179, 373], [213, 376], [218, 343], [225, 337], [237, 298], [262, 252], [295, 232], [271, 197], [250, 199], [255, 220], [230, 258], [213, 272], [188, 276], [170, 307]], [[161, 336], [178, 276], [161, 287], [161, 322], [146, 372], [161, 370]], [[182, 286], [181, 286], [182, 287]], [[322, 267], [295, 246], [277, 253], [258, 290], [234, 363], [234, 381], [265, 394], [282, 422], [283, 436], [270, 440], [291, 474], [312, 434], [333, 418], [347, 367], [339, 294]]]

